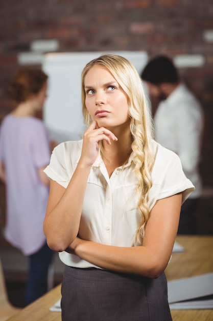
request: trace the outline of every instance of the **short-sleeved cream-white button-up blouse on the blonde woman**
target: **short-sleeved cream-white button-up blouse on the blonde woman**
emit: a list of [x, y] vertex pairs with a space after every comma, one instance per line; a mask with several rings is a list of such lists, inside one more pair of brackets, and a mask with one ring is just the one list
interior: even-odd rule
[[[67, 187], [81, 155], [83, 141], [69, 141], [58, 145], [51, 162], [44, 172], [64, 188]], [[184, 200], [193, 192], [194, 186], [183, 173], [179, 157], [154, 142], [157, 148], [152, 170], [152, 188], [149, 192], [149, 208], [156, 200], [183, 192]], [[133, 153], [128, 164], [118, 167], [109, 178], [99, 154], [91, 167], [84, 196], [79, 235], [93, 242], [132, 247], [134, 234], [140, 222], [136, 206], [138, 200], [134, 189], [137, 179], [133, 172]], [[70, 199], [72, 202], [72, 199]], [[62, 262], [78, 268], [96, 267], [75, 254], [59, 253]]]

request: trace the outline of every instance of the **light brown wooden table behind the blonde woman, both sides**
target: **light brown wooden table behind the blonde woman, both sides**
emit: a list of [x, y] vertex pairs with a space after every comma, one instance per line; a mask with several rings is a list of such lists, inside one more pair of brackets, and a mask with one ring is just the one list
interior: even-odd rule
[[[172, 255], [165, 270], [168, 280], [213, 272], [213, 236], [177, 236], [176, 240], [185, 252]], [[60, 289], [57, 286], [8, 321], [61, 321], [61, 312], [49, 310], [60, 298]], [[213, 320], [213, 310], [171, 310], [171, 314], [173, 321]]]

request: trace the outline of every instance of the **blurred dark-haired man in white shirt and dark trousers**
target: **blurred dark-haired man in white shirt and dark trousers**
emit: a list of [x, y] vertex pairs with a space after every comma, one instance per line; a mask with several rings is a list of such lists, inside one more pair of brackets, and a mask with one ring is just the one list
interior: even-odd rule
[[203, 112], [195, 96], [180, 82], [178, 71], [166, 56], [157, 56], [141, 73], [150, 97], [159, 104], [154, 115], [156, 141], [179, 155], [183, 171], [195, 191], [182, 205], [179, 234], [195, 233], [195, 211], [202, 191], [198, 166]]

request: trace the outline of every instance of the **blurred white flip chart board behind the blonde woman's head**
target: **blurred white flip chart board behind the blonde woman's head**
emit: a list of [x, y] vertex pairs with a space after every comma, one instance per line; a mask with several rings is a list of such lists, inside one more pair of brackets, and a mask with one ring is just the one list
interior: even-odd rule
[[144, 51], [48, 53], [42, 69], [48, 74], [48, 98], [43, 119], [51, 139], [58, 143], [81, 139], [85, 131], [81, 104], [81, 72], [85, 65], [102, 54], [127, 58], [140, 74], [148, 61]]

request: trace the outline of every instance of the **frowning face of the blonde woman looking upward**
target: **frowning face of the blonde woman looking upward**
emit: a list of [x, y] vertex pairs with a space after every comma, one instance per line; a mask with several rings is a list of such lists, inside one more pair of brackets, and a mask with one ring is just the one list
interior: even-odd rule
[[85, 105], [99, 127], [130, 124], [128, 97], [107, 68], [94, 65], [84, 80]]

